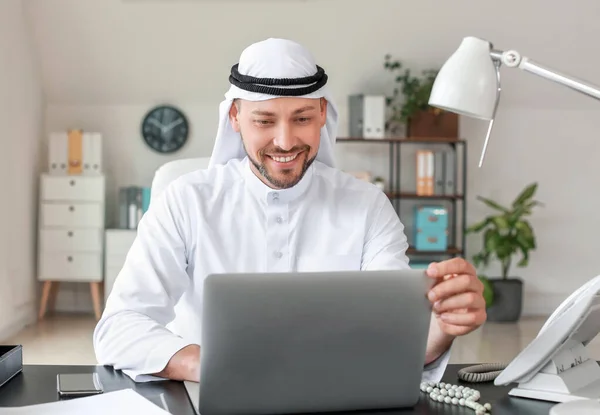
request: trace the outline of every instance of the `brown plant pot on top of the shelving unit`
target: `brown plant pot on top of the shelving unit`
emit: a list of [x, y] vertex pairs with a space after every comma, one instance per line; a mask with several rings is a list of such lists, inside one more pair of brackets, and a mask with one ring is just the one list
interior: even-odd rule
[[408, 137], [440, 137], [458, 140], [458, 114], [448, 111], [419, 111], [406, 125]]

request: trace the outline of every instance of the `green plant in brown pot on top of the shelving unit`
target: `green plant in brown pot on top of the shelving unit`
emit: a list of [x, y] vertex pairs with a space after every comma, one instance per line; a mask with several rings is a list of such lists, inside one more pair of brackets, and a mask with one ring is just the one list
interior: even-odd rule
[[391, 110], [389, 130], [396, 132], [405, 125], [408, 137], [458, 137], [458, 115], [429, 105], [437, 69], [423, 70], [421, 76], [415, 76], [410, 69], [401, 72], [402, 62], [392, 60], [389, 54], [385, 55], [384, 68], [396, 74], [397, 84], [393, 95], [386, 100]]

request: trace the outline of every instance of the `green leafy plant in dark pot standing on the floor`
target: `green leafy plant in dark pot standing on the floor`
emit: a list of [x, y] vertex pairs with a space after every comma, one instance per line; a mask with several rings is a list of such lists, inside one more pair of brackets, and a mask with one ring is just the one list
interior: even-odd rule
[[[473, 256], [475, 267], [486, 268], [492, 260], [500, 262], [501, 275], [488, 278], [480, 275], [484, 283], [489, 321], [513, 322], [521, 317], [523, 307], [523, 280], [514, 276], [513, 264], [526, 267], [531, 251], [536, 249], [536, 237], [527, 217], [540, 202], [533, 200], [537, 183], [532, 183], [514, 199], [509, 207], [478, 196], [477, 199], [492, 208], [495, 213], [467, 228], [467, 233], [481, 233], [483, 246]], [[518, 262], [513, 261], [515, 257]]]

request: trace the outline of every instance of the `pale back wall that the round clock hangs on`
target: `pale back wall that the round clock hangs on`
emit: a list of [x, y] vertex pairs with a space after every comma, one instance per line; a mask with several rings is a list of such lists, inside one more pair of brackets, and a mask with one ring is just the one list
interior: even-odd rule
[[[148, 185], [160, 164], [210, 154], [229, 68], [245, 46], [266, 37], [292, 38], [313, 51], [330, 75], [341, 135], [347, 131], [347, 95], [389, 93], [386, 53], [417, 70], [439, 66], [466, 35], [600, 83], [600, 58], [591, 52], [600, 34], [597, 0], [581, 0], [577, 7], [564, 2], [549, 7], [543, 0], [29, 4], [48, 97], [45, 131], [103, 132], [109, 224], [116, 220], [111, 203], [117, 186]], [[476, 195], [509, 202], [526, 184], [540, 183], [539, 199], [546, 207], [533, 219], [539, 249], [529, 268], [514, 273], [527, 284], [525, 312], [547, 313], [600, 272], [592, 253], [600, 231], [593, 211], [600, 203], [594, 190], [600, 174], [595, 122], [600, 104], [517, 70], [504, 68], [502, 82], [501, 111], [482, 169], [477, 161], [485, 125], [462, 120], [469, 143], [468, 221], [486, 213]], [[190, 142], [172, 156], [153, 153], [139, 134], [144, 113], [162, 102], [180, 106], [192, 122]], [[365, 147], [345, 144], [338, 149], [340, 167], [386, 174], [385, 149], [374, 146], [365, 154]], [[412, 172], [412, 165], [407, 169]], [[469, 239], [469, 255], [478, 244]], [[87, 288], [82, 292], [87, 295]]]

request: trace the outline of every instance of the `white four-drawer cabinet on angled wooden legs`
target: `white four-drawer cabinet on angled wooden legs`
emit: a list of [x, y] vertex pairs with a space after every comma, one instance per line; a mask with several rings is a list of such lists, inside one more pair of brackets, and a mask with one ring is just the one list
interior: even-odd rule
[[38, 279], [44, 281], [44, 288], [40, 318], [52, 285], [56, 291], [60, 282], [90, 283], [93, 308], [100, 317], [104, 206], [104, 176], [41, 176]]

